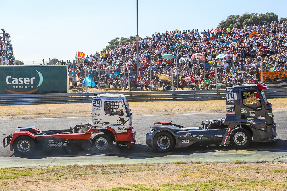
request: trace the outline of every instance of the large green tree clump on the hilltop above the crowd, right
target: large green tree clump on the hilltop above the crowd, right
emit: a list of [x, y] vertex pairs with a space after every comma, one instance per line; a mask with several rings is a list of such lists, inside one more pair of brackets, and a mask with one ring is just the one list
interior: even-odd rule
[[[282, 18], [283, 19], [283, 18]], [[238, 25], [248, 25], [248, 24], [267, 24], [272, 21], [278, 22], [278, 16], [274, 13], [266, 13], [266, 14], [257, 14], [257, 13], [244, 13], [241, 16], [239, 15], [229, 15], [226, 20], [222, 20], [219, 23], [218, 28], [223, 27], [237, 27]]]

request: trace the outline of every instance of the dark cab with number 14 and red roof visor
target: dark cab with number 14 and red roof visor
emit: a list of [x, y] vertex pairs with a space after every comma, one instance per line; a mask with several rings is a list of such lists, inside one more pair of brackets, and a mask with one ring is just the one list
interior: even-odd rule
[[252, 130], [253, 141], [269, 142], [276, 137], [272, 104], [265, 97], [263, 83], [226, 88], [226, 118], [224, 125], [240, 125]]

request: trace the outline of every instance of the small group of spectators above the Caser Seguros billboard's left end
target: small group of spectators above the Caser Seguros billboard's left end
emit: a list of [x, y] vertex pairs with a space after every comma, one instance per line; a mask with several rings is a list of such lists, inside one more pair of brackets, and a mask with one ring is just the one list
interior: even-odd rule
[[9, 34], [1, 29], [0, 33], [0, 65], [14, 65], [13, 47], [9, 40]]

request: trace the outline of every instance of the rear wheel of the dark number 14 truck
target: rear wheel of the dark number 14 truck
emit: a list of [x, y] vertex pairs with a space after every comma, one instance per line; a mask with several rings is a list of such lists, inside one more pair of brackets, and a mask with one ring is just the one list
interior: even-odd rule
[[154, 136], [153, 145], [160, 152], [169, 152], [175, 146], [174, 137], [164, 131], [157, 133]]

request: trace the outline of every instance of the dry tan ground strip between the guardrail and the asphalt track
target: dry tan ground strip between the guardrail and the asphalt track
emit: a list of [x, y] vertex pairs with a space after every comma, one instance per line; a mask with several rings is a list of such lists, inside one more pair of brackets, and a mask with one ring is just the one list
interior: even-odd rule
[[[268, 99], [273, 111], [287, 110], [287, 98]], [[130, 102], [133, 115], [225, 112], [225, 100]], [[0, 106], [0, 119], [90, 117], [91, 103]]]

